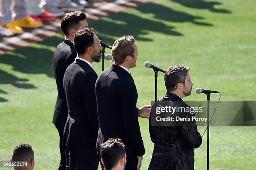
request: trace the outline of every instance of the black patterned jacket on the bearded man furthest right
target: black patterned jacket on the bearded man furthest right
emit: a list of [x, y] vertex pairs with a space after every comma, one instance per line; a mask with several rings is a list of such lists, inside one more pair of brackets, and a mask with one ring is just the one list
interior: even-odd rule
[[[178, 101], [179, 107], [189, 107], [176, 94], [166, 93], [163, 101]], [[194, 170], [194, 148], [200, 147], [202, 137], [196, 123], [181, 126], [151, 126], [149, 133], [154, 151], [148, 170]]]

